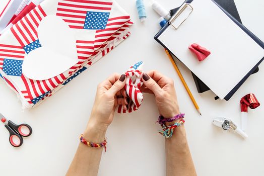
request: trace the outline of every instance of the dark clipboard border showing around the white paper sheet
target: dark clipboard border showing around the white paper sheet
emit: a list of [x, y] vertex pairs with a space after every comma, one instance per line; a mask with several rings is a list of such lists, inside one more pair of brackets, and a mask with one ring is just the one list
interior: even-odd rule
[[[183, 2], [182, 5], [185, 3], [191, 4], [194, 0], [186, 0]], [[198, 1], [198, 0], [196, 0]], [[238, 25], [250, 38], [252, 38], [261, 48], [264, 49], [264, 43], [258, 39], [253, 33], [251, 33], [245, 26], [243, 26], [239, 21], [237, 21], [233, 16], [231, 16], [224, 8], [222, 8], [219, 4], [217, 4], [214, 0], [213, 1], [236, 25]], [[166, 25], [155, 35], [154, 39], [159, 42], [164, 48], [166, 48], [171, 54], [173, 54], [159, 39], [158, 37], [170, 26], [169, 23], [166, 23]], [[174, 55], [174, 54], [173, 54]], [[177, 56], [174, 55], [176, 58]], [[258, 65], [264, 60], [264, 57], [238, 82], [235, 87], [226, 95], [224, 98], [226, 101], [228, 101], [235, 92], [239, 89], [239, 87], [245, 82], [245, 80], [252, 74], [257, 68]]]

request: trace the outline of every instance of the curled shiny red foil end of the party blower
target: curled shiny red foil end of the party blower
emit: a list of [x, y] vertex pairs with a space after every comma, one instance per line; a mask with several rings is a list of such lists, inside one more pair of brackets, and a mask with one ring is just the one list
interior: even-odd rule
[[254, 94], [247, 94], [240, 100], [241, 112], [246, 112], [248, 107], [250, 109], [255, 109], [259, 107], [260, 103], [257, 101]]

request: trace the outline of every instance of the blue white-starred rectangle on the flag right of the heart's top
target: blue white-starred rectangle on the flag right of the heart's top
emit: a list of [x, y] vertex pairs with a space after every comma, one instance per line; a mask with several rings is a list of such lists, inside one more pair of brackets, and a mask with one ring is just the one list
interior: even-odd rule
[[109, 15], [110, 13], [108, 12], [87, 12], [84, 29], [105, 29]]

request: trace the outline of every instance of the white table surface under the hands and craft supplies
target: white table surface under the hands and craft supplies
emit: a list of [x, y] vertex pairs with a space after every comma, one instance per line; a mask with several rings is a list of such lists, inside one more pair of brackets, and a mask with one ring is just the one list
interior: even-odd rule
[[[0, 9], [5, 1], [1, 1]], [[182, 3], [182, 0], [159, 1], [166, 9]], [[117, 2], [135, 22], [131, 36], [40, 106], [23, 111], [16, 95], [0, 81], [0, 112], [15, 123], [25, 122], [33, 128], [32, 135], [24, 138], [24, 144], [14, 148], [8, 141], [6, 128], [0, 127], [0, 175], [64, 175], [79, 145], [78, 137], [88, 122], [97, 84], [112, 72], [122, 73], [140, 60], [145, 62], [145, 71], [157, 69], [174, 79], [180, 110], [186, 113], [187, 138], [198, 175], [263, 175], [263, 105], [249, 110], [246, 140], [212, 125], [217, 116], [232, 118], [240, 125], [239, 101], [248, 93], [254, 93], [260, 103], [264, 102], [263, 65], [226, 102], [215, 101], [210, 91], [197, 93], [190, 71], [177, 62], [200, 105], [203, 114], [200, 117], [163, 48], [153, 39], [160, 27], [159, 16], [151, 9], [150, 1], [145, 1], [148, 14], [145, 24], [138, 20], [135, 1]], [[264, 3], [235, 2], [244, 25], [264, 40]], [[115, 114], [107, 131], [107, 152], [103, 152], [99, 175], [165, 175], [164, 138], [158, 134], [157, 117], [151, 95], [145, 95], [137, 112]]]

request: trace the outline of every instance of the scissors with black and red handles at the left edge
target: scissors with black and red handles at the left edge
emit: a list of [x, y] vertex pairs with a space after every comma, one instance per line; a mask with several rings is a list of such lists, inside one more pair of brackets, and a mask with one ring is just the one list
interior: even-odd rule
[[28, 124], [17, 125], [11, 120], [7, 120], [0, 114], [1, 121], [9, 131], [9, 142], [13, 147], [20, 147], [23, 144], [22, 137], [28, 137], [32, 134], [32, 128]]

